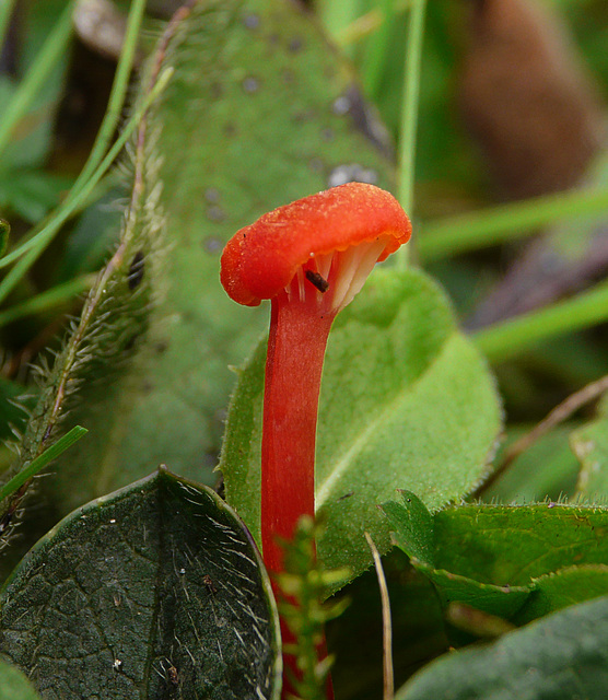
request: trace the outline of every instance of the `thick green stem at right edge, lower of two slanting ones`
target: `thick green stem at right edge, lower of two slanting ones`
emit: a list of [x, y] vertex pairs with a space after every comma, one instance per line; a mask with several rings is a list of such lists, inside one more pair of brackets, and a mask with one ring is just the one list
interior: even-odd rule
[[539, 311], [490, 326], [473, 340], [490, 362], [508, 360], [528, 348], [608, 320], [608, 282]]

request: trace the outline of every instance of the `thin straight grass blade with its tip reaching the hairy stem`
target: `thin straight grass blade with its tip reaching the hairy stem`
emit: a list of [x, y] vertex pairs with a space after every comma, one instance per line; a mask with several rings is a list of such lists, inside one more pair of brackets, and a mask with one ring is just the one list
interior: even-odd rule
[[[57, 233], [57, 231], [61, 228], [63, 222], [66, 222], [72, 212], [81, 205], [82, 201], [86, 200], [100, 179], [105, 175], [109, 166], [114, 163], [118, 154], [121, 152], [126, 142], [129, 140], [131, 133], [138, 126], [143, 114], [150, 107], [152, 102], [161, 94], [161, 92], [165, 89], [168, 80], [172, 75], [172, 70], [166, 69], [161, 77], [159, 78], [159, 82], [154, 85], [154, 88], [150, 91], [150, 93], [145, 96], [145, 100], [142, 102], [140, 107], [136, 110], [133, 116], [129, 119], [122, 132], [112, 147], [112, 149], [107, 152], [106, 156], [103, 159], [101, 164], [94, 174], [89, 178], [87, 183], [83, 185], [78, 194], [73, 197], [69, 197], [66, 199], [63, 205], [59, 207], [59, 209], [55, 212], [52, 217], [52, 221], [48, 223], [36, 236], [36, 238], [31, 240], [31, 244], [28, 246], [26, 255], [21, 258], [17, 264], [12, 268], [12, 270], [4, 277], [2, 282], [0, 283], [0, 303], [4, 301], [7, 295], [12, 291], [15, 284], [19, 283], [19, 280], [23, 277], [26, 270], [34, 264], [34, 261], [39, 257], [43, 253], [47, 244], [51, 241], [52, 236]], [[8, 256], [7, 256], [8, 257]], [[5, 258], [4, 258], [5, 260]], [[2, 261], [0, 261], [0, 267]]]

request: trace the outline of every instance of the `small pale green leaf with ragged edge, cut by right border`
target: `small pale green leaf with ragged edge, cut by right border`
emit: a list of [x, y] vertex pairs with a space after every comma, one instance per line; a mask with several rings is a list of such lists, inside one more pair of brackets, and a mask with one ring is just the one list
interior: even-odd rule
[[572, 433], [571, 444], [581, 460], [578, 492], [591, 499], [604, 499], [608, 495], [608, 399], [600, 402], [594, 421]]

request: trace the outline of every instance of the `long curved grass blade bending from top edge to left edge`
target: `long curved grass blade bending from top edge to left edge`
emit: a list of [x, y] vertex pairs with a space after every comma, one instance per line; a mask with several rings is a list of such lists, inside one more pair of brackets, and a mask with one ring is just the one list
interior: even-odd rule
[[[37, 237], [40, 236], [44, 242], [44, 247], [52, 240], [57, 231], [61, 228], [66, 219], [60, 219], [60, 224], [55, 226], [54, 219], [55, 217], [61, 217], [62, 207], [69, 207], [72, 198], [78, 198], [80, 190], [86, 186], [87, 180], [93, 176], [97, 166], [102, 162], [104, 158], [104, 153], [106, 152], [109, 142], [114, 136], [116, 127], [118, 125], [118, 120], [120, 118], [120, 113], [122, 110], [122, 105], [125, 104], [125, 97], [127, 95], [128, 86], [129, 86], [129, 78], [131, 74], [131, 70], [133, 67], [135, 55], [137, 50], [137, 38], [141, 27], [141, 21], [143, 18], [143, 12], [145, 10], [145, 0], [133, 0], [130, 11], [129, 18], [127, 22], [127, 31], [125, 34], [125, 44], [122, 47], [122, 51], [120, 54], [120, 59], [118, 61], [118, 67], [116, 69], [116, 75], [114, 78], [114, 83], [112, 85], [112, 92], [108, 101], [108, 106], [106, 113], [104, 115], [104, 119], [102, 121], [102, 126], [100, 127], [100, 131], [97, 132], [97, 137], [95, 138], [95, 142], [82, 168], [82, 172], [78, 176], [72, 189], [70, 190], [68, 197], [63, 200], [62, 206], [59, 207], [55, 212], [50, 214], [39, 226], [36, 226], [32, 234], [27, 236], [23, 243], [11, 250], [8, 255], [0, 259], [0, 268], [7, 267], [11, 265], [14, 260], [19, 259], [21, 256], [25, 255], [31, 248], [36, 247]], [[81, 200], [82, 201], [82, 200]], [[74, 209], [70, 211], [73, 212]], [[50, 226], [52, 230], [51, 234], [48, 234], [48, 238], [44, 236], [44, 231]], [[16, 283], [21, 277], [25, 273], [25, 271], [30, 268], [36, 257], [32, 257], [27, 259], [27, 265], [24, 262], [19, 268], [19, 275], [14, 275], [14, 282]]]

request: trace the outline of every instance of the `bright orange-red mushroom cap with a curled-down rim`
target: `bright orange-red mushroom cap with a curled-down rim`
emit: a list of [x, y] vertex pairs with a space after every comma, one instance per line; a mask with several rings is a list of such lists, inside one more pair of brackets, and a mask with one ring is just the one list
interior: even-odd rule
[[381, 261], [410, 235], [410, 221], [393, 195], [374, 185], [347, 183], [279, 207], [237, 231], [222, 254], [220, 279], [235, 302], [257, 306], [287, 288], [316, 255], [383, 236]]

